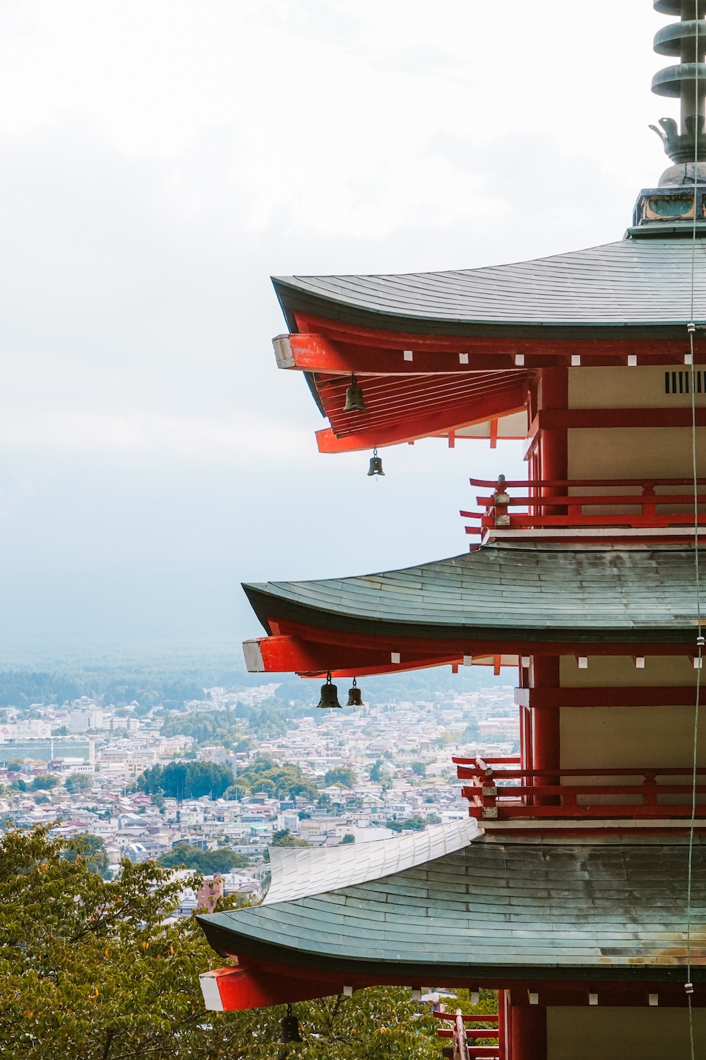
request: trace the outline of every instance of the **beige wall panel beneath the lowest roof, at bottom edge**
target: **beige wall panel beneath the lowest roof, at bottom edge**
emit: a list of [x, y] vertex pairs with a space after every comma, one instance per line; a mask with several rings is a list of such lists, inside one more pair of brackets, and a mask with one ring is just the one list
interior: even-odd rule
[[[657, 988], [655, 987], [655, 990]], [[547, 1008], [547, 1060], [676, 1060], [691, 1055], [686, 1008]], [[696, 1056], [706, 1010], [693, 1010]]]

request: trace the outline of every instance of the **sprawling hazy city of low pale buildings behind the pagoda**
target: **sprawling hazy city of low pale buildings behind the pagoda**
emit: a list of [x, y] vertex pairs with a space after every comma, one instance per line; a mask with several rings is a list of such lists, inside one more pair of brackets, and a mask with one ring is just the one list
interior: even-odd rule
[[[467, 817], [452, 756], [519, 746], [509, 685], [304, 717], [300, 706], [292, 709], [300, 717], [272, 736], [261, 721], [279, 687], [213, 687], [168, 712], [86, 695], [60, 706], [7, 706], [0, 710], [0, 820], [95, 837], [107, 879], [123, 858], [151, 859], [205, 868], [206, 887], [215, 873], [219, 895], [251, 901], [267, 886], [269, 845], [365, 843]], [[257, 729], [242, 717], [253, 707]], [[150, 782], [156, 770], [197, 762], [217, 770], [207, 794], [177, 797], [168, 777], [161, 788], [159, 777]], [[197, 904], [185, 887], [180, 912]]]

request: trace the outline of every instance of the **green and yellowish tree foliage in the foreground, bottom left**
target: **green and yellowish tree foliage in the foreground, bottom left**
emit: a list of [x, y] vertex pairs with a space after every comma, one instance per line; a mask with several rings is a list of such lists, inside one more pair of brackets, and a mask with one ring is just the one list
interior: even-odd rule
[[225, 961], [193, 917], [168, 922], [183, 882], [128, 861], [106, 882], [71, 847], [42, 827], [0, 842], [3, 1060], [437, 1060], [409, 990], [295, 1005], [304, 1041], [286, 1049], [284, 1006], [204, 1011], [199, 972]]

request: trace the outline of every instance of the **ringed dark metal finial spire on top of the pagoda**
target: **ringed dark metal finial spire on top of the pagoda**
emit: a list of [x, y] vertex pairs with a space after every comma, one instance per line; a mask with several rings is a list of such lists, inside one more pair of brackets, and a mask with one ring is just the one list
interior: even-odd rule
[[652, 91], [681, 98], [682, 130], [673, 118], [660, 118], [659, 128], [650, 127], [662, 137], [665, 152], [673, 162], [693, 162], [694, 157], [703, 162], [706, 161], [706, 0], [653, 0], [653, 6], [663, 15], [681, 18], [655, 34], [655, 52], [678, 55], [681, 61], [654, 75]]

